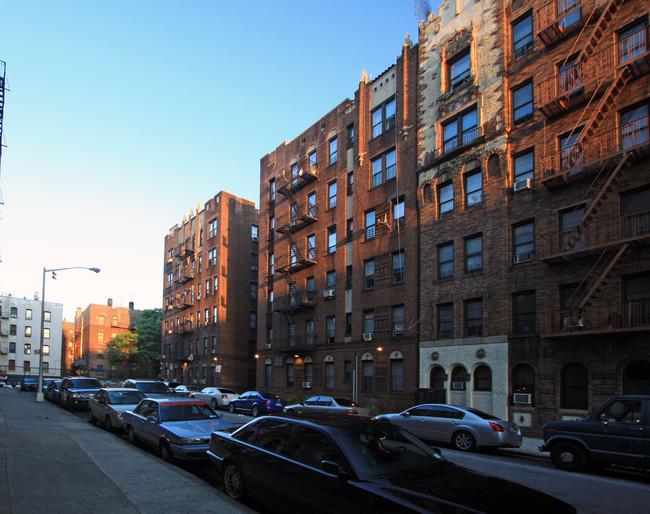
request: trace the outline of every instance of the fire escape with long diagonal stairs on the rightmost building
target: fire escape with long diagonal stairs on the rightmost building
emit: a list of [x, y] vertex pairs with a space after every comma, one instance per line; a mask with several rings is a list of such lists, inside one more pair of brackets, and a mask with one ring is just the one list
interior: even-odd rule
[[[541, 258], [552, 264], [585, 255], [597, 256], [587, 276], [566, 302], [565, 310], [543, 316], [545, 336], [641, 328], [636, 327], [639, 316], [635, 316], [630, 306], [620, 307], [620, 312], [613, 313], [611, 308], [597, 309], [591, 305], [621, 259], [635, 245], [650, 245], [650, 209], [609, 217], [606, 221], [597, 218], [625, 171], [634, 162], [650, 157], [647, 112], [628, 124], [602, 130], [628, 83], [650, 70], [645, 26], [616, 44], [599, 49], [624, 1], [610, 0], [602, 11], [594, 8], [586, 14], [583, 8], [587, 2], [558, 0], [547, 4], [542, 8], [546, 10], [539, 13], [542, 27], [537, 35], [547, 46], [566, 37], [571, 32], [569, 24], [576, 26], [575, 31], [587, 27], [597, 17], [577, 56], [567, 57], [559, 72], [537, 88], [539, 108], [547, 119], [586, 104], [575, 127], [558, 140], [559, 150], [553, 149], [542, 157], [542, 184], [553, 189], [591, 179], [583, 196], [583, 200], [590, 199], [589, 203], [575, 211], [572, 226], [542, 235]], [[572, 54], [574, 50], [575, 47], [571, 49]], [[640, 310], [647, 308], [642, 306]]]

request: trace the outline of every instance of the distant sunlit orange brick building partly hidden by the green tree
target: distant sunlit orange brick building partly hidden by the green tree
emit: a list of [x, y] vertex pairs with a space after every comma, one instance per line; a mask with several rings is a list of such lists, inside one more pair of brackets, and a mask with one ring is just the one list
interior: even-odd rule
[[128, 378], [108, 361], [108, 343], [118, 334], [133, 332], [141, 314], [133, 302], [128, 307], [113, 307], [111, 298], [106, 305], [91, 303], [83, 311], [77, 308], [74, 332], [64, 323], [66, 371], [101, 380]]

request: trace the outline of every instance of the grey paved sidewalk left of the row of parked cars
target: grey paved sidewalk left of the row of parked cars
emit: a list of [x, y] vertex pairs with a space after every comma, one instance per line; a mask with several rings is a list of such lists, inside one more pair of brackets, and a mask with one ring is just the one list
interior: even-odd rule
[[0, 513], [253, 513], [34, 393], [0, 388]]

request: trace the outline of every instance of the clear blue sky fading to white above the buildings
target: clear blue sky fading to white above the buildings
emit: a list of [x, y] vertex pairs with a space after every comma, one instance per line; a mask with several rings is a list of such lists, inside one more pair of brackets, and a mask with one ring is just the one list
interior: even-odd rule
[[[431, 7], [439, 2], [430, 1]], [[414, 0], [3, 0], [0, 294], [161, 307], [169, 229], [391, 66]]]

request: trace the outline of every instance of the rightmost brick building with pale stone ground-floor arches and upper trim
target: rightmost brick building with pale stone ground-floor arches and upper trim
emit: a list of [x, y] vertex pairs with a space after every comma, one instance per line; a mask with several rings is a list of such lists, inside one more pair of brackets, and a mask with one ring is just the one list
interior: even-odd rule
[[420, 386], [519, 423], [650, 392], [648, 7], [420, 25]]

